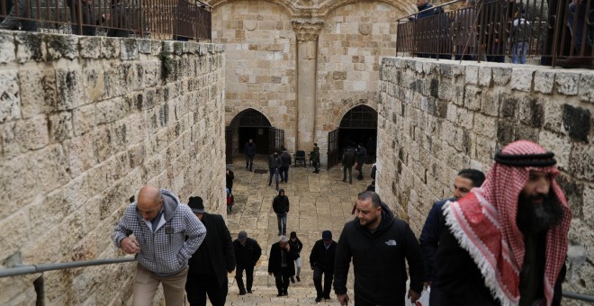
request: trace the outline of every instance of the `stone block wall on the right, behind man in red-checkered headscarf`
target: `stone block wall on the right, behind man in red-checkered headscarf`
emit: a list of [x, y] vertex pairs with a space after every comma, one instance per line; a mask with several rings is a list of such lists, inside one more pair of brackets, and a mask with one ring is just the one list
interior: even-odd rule
[[564, 290], [594, 294], [594, 71], [383, 58], [377, 191], [419, 234], [462, 168], [516, 139], [551, 150], [572, 208]]

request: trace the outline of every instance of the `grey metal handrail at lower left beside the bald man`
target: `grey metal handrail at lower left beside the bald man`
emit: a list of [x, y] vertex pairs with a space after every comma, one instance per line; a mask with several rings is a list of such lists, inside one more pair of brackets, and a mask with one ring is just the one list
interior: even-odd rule
[[66, 263], [51, 263], [51, 264], [40, 264], [40, 265], [29, 265], [29, 266], [14, 266], [13, 268], [7, 268], [0, 270], [0, 278], [15, 276], [15, 275], [31, 275], [34, 273], [41, 273], [52, 270], [63, 270], [71, 269], [82, 266], [101, 266], [111, 264], [121, 264], [136, 261], [135, 257], [121, 257], [121, 258], [105, 258], [105, 259], [93, 259], [83, 261], [70, 261]]

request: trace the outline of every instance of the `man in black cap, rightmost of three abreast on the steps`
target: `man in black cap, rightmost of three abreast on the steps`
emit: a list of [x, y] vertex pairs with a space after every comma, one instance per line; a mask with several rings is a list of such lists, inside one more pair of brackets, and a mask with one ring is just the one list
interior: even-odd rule
[[[332, 232], [322, 231], [322, 238], [313, 245], [310, 254], [310, 265], [313, 270], [313, 285], [316, 287], [316, 302], [330, 299], [332, 290], [332, 275], [334, 274], [334, 257], [337, 243], [332, 240]], [[324, 275], [324, 290], [322, 291], [321, 276]]]

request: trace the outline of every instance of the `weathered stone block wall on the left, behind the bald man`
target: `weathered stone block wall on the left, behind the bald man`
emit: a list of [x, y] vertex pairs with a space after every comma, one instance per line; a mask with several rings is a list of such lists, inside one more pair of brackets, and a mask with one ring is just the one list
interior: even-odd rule
[[[224, 65], [222, 45], [0, 31], [1, 267], [122, 257], [144, 184], [225, 214]], [[123, 304], [134, 270], [46, 272], [45, 302]], [[34, 305], [39, 277], [0, 279], [0, 304]]]

